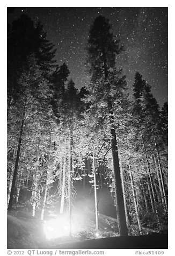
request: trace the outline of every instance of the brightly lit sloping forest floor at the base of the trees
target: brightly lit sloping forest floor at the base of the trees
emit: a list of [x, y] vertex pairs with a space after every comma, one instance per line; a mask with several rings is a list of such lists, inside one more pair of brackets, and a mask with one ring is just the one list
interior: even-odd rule
[[[72, 232], [72, 236], [68, 236], [63, 232], [63, 235], [59, 233], [59, 230], [62, 232], [64, 229], [63, 219], [59, 217], [61, 221], [56, 225], [55, 217], [47, 218], [46, 221], [41, 221], [39, 218], [33, 218], [27, 212], [23, 210], [14, 209], [8, 214], [8, 248], [108, 248], [111, 243], [111, 247], [113, 248], [114, 237], [118, 237], [119, 234], [117, 232], [118, 227], [116, 223], [116, 219], [110, 216], [106, 216], [103, 214], [98, 215], [99, 219], [99, 231], [95, 229], [95, 215], [93, 211], [86, 210], [78, 213], [72, 214], [72, 231], [74, 231], [74, 226], [76, 227], [76, 232]], [[48, 225], [48, 223], [51, 223]], [[46, 228], [47, 225], [47, 228]], [[62, 226], [61, 226], [62, 225]], [[53, 226], [55, 231], [53, 230]], [[44, 232], [45, 231], [45, 232]], [[52, 236], [47, 239], [49, 232]], [[55, 236], [54, 236], [55, 232]], [[149, 228], [144, 228], [142, 231], [142, 235], [158, 233], [158, 230], [152, 230]], [[136, 225], [130, 225], [129, 233], [138, 236], [140, 235]], [[157, 234], [158, 235], [158, 234]], [[144, 236], [142, 236], [144, 237]], [[158, 237], [157, 237], [158, 238]], [[107, 240], [106, 240], [107, 239]], [[120, 238], [119, 238], [120, 239]], [[151, 240], [154, 238], [151, 238]], [[161, 241], [159, 238], [159, 241]], [[164, 243], [165, 243], [165, 238]], [[91, 244], [87, 244], [86, 241], [92, 241]], [[147, 237], [148, 240], [148, 237]], [[152, 240], [152, 241], [153, 241]], [[85, 241], [85, 244], [84, 244]], [[106, 245], [105, 245], [106, 241]], [[72, 244], [73, 243], [73, 244]], [[79, 244], [75, 244], [79, 243]], [[100, 244], [99, 244], [100, 243]], [[128, 244], [130, 242], [128, 241]], [[141, 242], [140, 242], [141, 243]], [[116, 243], [115, 243], [116, 244]], [[123, 242], [123, 246], [125, 246], [125, 242]], [[154, 243], [155, 244], [155, 243]], [[122, 241], [120, 241], [120, 245], [122, 246]], [[162, 244], [163, 245], [163, 244]], [[63, 246], [63, 247], [62, 247]], [[97, 247], [96, 247], [97, 246]], [[106, 247], [103, 247], [106, 246]], [[116, 245], [115, 245], [116, 246]]]

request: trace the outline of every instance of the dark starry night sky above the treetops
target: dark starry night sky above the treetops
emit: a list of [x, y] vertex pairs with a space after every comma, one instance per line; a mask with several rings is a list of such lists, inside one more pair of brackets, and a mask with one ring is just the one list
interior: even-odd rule
[[113, 34], [125, 48], [117, 56], [116, 65], [126, 75], [128, 93], [133, 94], [132, 84], [138, 71], [152, 86], [159, 105], [162, 107], [167, 101], [167, 8], [19, 7], [8, 14], [8, 22], [22, 13], [41, 22], [47, 39], [57, 48], [57, 63], [67, 63], [77, 88], [89, 83], [84, 63], [90, 26], [99, 15], [108, 18]]

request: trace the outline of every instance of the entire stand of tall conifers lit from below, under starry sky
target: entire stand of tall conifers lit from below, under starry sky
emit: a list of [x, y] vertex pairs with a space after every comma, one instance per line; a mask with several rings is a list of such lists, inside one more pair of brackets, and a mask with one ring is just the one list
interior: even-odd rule
[[78, 90], [67, 62], [54, 60], [56, 49], [40, 23], [22, 15], [9, 26], [9, 212], [23, 205], [41, 220], [49, 212], [67, 213], [71, 236], [76, 186], [83, 187], [84, 198], [89, 186], [98, 230], [105, 187], [116, 208], [119, 236], [133, 234], [133, 224], [140, 234], [145, 226], [163, 229], [168, 105], [159, 108], [139, 72], [129, 100], [126, 77], [117, 68], [122, 51], [109, 20], [98, 16], [86, 45], [90, 83]]

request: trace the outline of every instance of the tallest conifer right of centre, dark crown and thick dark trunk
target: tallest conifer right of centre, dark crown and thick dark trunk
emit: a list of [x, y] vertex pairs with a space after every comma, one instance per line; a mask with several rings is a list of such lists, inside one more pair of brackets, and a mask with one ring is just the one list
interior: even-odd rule
[[99, 16], [94, 20], [88, 39], [87, 63], [96, 102], [104, 101], [104, 104], [106, 104], [107, 107], [106, 114], [109, 116], [110, 120], [115, 199], [119, 233], [120, 236], [127, 236], [128, 230], [123, 202], [118, 145], [116, 141], [113, 115], [113, 100], [116, 95], [120, 95], [119, 88], [121, 88], [124, 83], [123, 79], [119, 79], [118, 72], [115, 67], [116, 55], [122, 51], [122, 47], [119, 47], [119, 41], [114, 40], [111, 27], [112, 26], [108, 19], [103, 16]]

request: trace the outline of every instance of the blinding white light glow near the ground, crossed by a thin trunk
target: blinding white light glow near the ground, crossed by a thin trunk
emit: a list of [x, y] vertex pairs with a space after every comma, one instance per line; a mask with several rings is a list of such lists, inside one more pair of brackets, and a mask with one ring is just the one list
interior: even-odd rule
[[[81, 222], [79, 222], [79, 216], [72, 218], [72, 230], [71, 233], [75, 234], [81, 231]], [[77, 223], [78, 222], [78, 223]], [[49, 219], [43, 223], [43, 231], [48, 240], [58, 237], [64, 237], [69, 235], [69, 222], [68, 218], [64, 215], [57, 216], [56, 218]]]

